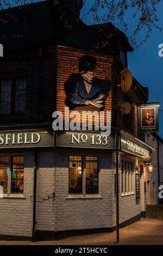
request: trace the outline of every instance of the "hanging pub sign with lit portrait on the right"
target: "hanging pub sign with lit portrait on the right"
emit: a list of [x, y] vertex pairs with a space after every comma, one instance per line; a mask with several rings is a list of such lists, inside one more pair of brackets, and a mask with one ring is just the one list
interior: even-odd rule
[[159, 103], [139, 106], [139, 132], [159, 131]]

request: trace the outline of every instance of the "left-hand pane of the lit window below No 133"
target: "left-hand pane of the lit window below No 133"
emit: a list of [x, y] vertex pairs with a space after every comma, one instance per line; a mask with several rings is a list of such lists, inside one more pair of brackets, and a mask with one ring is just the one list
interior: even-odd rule
[[82, 156], [69, 157], [69, 194], [82, 194]]

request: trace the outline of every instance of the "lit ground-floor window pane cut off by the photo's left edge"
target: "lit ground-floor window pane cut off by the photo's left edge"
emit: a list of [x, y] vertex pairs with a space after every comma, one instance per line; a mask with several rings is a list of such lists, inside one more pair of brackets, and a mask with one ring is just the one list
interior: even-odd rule
[[3, 193], [8, 192], [8, 173], [9, 157], [0, 156], [0, 185], [3, 187]]

